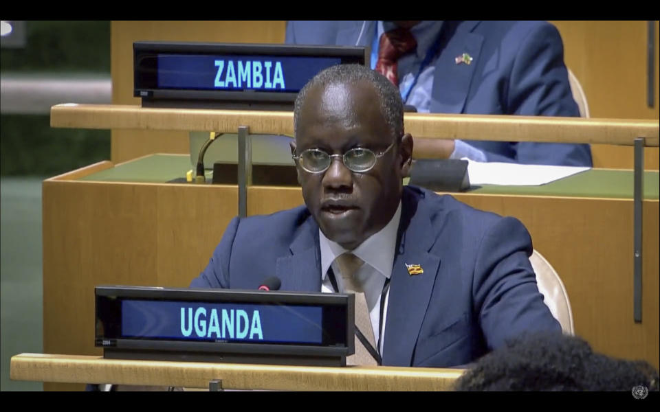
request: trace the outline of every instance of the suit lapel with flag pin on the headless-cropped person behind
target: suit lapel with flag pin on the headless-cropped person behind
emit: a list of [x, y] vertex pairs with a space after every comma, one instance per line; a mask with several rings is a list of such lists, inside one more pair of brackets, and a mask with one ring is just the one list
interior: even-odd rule
[[[465, 21], [451, 34], [451, 27], [445, 27], [442, 36], [451, 36], [435, 65], [433, 91], [431, 93], [431, 113], [462, 113], [478, 65], [483, 36], [472, 30], [478, 21]], [[472, 62], [456, 63], [456, 58], [467, 53]]]

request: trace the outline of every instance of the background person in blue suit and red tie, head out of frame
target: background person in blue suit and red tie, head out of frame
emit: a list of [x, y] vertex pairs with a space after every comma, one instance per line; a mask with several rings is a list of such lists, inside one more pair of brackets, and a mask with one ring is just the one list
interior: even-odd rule
[[[409, 29], [416, 46], [397, 61], [404, 104], [420, 113], [579, 116], [562, 39], [541, 21], [289, 21], [289, 44], [371, 47]], [[405, 31], [405, 30], [404, 30]], [[415, 158], [591, 166], [588, 145], [416, 139]]]

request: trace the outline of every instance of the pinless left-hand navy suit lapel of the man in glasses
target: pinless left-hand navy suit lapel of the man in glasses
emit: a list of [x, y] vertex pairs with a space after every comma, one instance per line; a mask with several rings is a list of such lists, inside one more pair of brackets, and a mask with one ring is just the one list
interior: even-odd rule
[[290, 254], [277, 259], [275, 273], [282, 281], [281, 290], [320, 292], [321, 258], [318, 246], [318, 226], [314, 218], [300, 226], [294, 241], [289, 245]]

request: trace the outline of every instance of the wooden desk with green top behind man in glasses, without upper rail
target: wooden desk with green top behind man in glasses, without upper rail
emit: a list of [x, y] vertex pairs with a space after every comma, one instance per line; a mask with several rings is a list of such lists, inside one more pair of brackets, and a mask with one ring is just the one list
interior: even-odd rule
[[[143, 172], [140, 164], [146, 165]], [[94, 286], [187, 287], [208, 264], [237, 213], [237, 189], [163, 183], [182, 176], [188, 168], [187, 156], [161, 155], [120, 165], [101, 162], [44, 181], [44, 352], [101, 354], [94, 347]], [[646, 172], [647, 191], [654, 193], [643, 201], [643, 321], [635, 323], [632, 184], [626, 181], [632, 181], [632, 173], [586, 173], [600, 174], [596, 181], [604, 182], [598, 185], [586, 174], [573, 179], [586, 179], [578, 183], [588, 187], [575, 187], [573, 194], [566, 183], [558, 182], [527, 187], [526, 192], [518, 189], [517, 194], [483, 187], [453, 196], [522, 220], [535, 249], [564, 281], [576, 333], [595, 350], [643, 358], [658, 367], [658, 174]], [[619, 190], [614, 191], [614, 186]], [[553, 192], [558, 187], [563, 196]], [[606, 197], [607, 187], [614, 196]], [[575, 196], [575, 192], [591, 194]], [[270, 214], [302, 203], [300, 187], [248, 189], [249, 215]], [[46, 388], [82, 389], [61, 384]]]

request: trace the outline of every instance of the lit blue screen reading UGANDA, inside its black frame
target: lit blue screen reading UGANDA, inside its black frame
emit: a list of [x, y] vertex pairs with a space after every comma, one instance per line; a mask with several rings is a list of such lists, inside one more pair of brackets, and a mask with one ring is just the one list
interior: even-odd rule
[[322, 341], [322, 308], [124, 300], [122, 336], [314, 344]]

